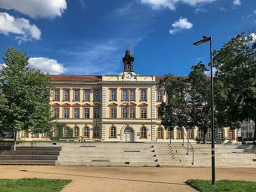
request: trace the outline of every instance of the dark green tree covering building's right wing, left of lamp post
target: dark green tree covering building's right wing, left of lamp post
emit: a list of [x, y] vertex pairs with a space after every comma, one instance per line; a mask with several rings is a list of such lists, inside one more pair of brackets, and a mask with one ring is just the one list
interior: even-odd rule
[[[160, 86], [165, 87], [167, 102], [159, 107], [159, 115], [165, 129], [175, 126], [204, 131], [203, 142], [211, 126], [210, 81], [202, 62], [191, 67], [188, 78], [166, 75]], [[190, 100], [187, 100], [187, 94]]]

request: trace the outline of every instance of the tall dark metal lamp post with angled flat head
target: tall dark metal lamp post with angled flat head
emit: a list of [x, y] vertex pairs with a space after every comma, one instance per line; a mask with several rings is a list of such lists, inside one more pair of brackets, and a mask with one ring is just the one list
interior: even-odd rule
[[214, 110], [213, 110], [213, 69], [212, 69], [212, 36], [206, 37], [193, 43], [193, 45], [201, 45], [210, 41], [210, 58], [211, 58], [211, 144], [212, 144], [212, 185], [215, 185], [215, 156], [214, 156]]

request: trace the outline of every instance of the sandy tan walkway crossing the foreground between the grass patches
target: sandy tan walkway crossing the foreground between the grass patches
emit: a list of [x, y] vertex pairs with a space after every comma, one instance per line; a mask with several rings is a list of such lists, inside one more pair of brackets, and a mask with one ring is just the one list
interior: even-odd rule
[[[217, 169], [217, 180], [256, 181], [256, 169]], [[188, 179], [211, 179], [209, 168], [0, 166], [0, 178], [72, 179], [62, 191], [196, 191]]]

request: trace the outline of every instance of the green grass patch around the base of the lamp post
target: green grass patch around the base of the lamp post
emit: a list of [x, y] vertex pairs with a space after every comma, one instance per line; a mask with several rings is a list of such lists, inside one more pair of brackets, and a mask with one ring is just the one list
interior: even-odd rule
[[231, 180], [220, 180], [216, 181], [216, 185], [212, 186], [210, 180], [187, 180], [188, 185], [194, 187], [201, 192], [255, 192], [256, 182], [253, 181], [231, 181]]

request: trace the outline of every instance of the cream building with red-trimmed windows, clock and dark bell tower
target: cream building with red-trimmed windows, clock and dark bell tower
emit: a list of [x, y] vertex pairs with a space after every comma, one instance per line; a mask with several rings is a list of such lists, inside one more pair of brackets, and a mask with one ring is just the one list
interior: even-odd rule
[[[118, 75], [50, 75], [54, 84], [51, 104], [53, 116], [67, 124], [74, 137], [124, 142], [182, 142], [184, 133], [191, 142], [202, 138], [198, 129], [165, 130], [161, 125], [158, 107], [166, 101], [164, 89], [157, 84], [163, 76], [139, 75], [134, 72], [134, 57], [126, 50], [124, 70]], [[146, 66], [145, 66], [146, 67]], [[190, 95], [187, 95], [190, 100]], [[57, 131], [53, 130], [53, 135]], [[22, 139], [41, 139], [49, 135], [22, 132]], [[210, 138], [210, 134], [207, 134]], [[220, 138], [236, 142], [236, 132], [221, 129]], [[185, 138], [186, 139], [186, 138]]]

